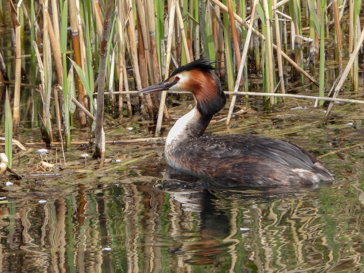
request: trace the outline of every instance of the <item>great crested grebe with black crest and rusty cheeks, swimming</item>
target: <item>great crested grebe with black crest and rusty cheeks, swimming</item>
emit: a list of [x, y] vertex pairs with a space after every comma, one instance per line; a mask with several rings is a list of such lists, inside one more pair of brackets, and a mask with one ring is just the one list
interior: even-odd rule
[[215, 185], [277, 186], [332, 181], [323, 163], [304, 149], [257, 135], [205, 135], [214, 114], [226, 103], [221, 82], [209, 59], [178, 67], [168, 79], [138, 93], [191, 92], [196, 106], [178, 119], [165, 143], [166, 163], [207, 178]]

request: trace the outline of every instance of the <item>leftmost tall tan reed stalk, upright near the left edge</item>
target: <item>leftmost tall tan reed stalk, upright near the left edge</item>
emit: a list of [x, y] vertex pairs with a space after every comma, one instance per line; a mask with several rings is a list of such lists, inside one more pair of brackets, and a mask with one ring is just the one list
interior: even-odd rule
[[[16, 12], [19, 16], [19, 8]], [[20, 23], [17, 19], [13, 19], [13, 25], [15, 27], [16, 44], [16, 62], [15, 62], [15, 87], [14, 87], [14, 105], [13, 105], [13, 132], [17, 135], [20, 115], [20, 82], [21, 82], [21, 37], [20, 37]]]

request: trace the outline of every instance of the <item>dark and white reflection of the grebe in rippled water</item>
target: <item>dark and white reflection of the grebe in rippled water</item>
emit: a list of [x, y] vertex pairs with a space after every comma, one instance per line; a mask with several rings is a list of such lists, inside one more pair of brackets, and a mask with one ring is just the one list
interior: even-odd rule
[[[155, 185], [155, 188], [167, 190], [171, 198], [180, 203], [185, 214], [194, 214], [194, 219], [187, 217], [186, 220], [197, 223], [192, 225], [193, 230], [186, 230], [186, 236], [179, 234], [175, 238], [179, 245], [171, 251], [189, 256], [185, 260], [189, 264], [218, 262], [219, 254], [228, 251], [234, 241], [227, 240], [231, 235], [229, 218], [225, 211], [217, 208], [217, 197], [209, 183], [169, 166], [166, 167], [165, 178], [168, 179]], [[188, 226], [188, 223], [184, 226]]]

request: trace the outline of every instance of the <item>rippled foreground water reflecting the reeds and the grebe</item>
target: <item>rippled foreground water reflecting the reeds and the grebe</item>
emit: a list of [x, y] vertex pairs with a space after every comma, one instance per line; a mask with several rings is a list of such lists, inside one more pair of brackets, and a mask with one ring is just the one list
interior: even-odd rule
[[284, 192], [216, 189], [169, 170], [142, 179], [0, 204], [0, 271], [364, 268], [361, 180]]

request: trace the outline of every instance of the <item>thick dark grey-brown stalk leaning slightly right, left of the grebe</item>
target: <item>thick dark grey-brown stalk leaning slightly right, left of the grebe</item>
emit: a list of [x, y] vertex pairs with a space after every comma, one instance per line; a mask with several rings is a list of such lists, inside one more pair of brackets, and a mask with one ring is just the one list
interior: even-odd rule
[[95, 152], [94, 158], [100, 158], [100, 165], [104, 163], [105, 156], [105, 134], [102, 128], [104, 113], [104, 88], [106, 75], [106, 55], [107, 41], [110, 39], [111, 16], [114, 7], [113, 0], [107, 0], [105, 7], [105, 17], [102, 32], [102, 40], [100, 40], [100, 59], [99, 59], [99, 84], [96, 105], [96, 125], [95, 125]]

